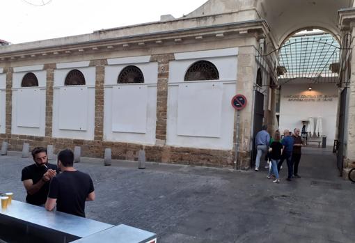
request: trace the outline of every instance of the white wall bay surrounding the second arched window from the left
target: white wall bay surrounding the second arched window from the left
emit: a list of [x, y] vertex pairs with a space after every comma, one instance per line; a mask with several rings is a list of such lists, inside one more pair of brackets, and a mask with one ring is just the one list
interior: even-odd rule
[[[86, 85], [64, 86], [65, 77], [73, 69], [83, 73]], [[53, 137], [94, 139], [95, 72], [95, 67], [54, 70]]]

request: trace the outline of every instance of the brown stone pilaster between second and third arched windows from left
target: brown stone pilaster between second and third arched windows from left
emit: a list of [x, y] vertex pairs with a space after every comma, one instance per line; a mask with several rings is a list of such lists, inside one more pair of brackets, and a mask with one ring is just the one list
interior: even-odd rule
[[102, 141], [104, 138], [104, 78], [107, 59], [90, 61], [95, 66], [95, 132], [94, 140]]

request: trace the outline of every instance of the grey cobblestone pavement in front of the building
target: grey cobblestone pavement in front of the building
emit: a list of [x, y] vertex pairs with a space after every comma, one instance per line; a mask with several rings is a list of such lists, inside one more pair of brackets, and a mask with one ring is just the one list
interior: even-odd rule
[[[18, 152], [0, 157], [0, 191], [24, 201], [21, 170], [31, 163]], [[155, 232], [158, 242], [355, 242], [355, 185], [337, 176], [330, 152], [303, 152], [292, 182], [284, 164], [279, 185], [266, 170], [102, 164], [75, 164], [95, 185], [87, 217]]]

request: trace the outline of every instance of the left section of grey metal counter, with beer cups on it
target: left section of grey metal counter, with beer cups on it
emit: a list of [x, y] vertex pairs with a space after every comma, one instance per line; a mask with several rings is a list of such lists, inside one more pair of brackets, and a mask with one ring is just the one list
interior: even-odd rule
[[[48, 212], [45, 207], [38, 207], [28, 203], [13, 200], [7, 210], [0, 210], [0, 223], [11, 225], [12, 228], [18, 226], [24, 228], [26, 233], [31, 228], [41, 228], [49, 230], [47, 236], [56, 233], [56, 237], [61, 236], [60, 242], [70, 242], [79, 238], [93, 235], [94, 233], [113, 227], [99, 221], [77, 217], [63, 212]], [[36, 233], [36, 230], [32, 230]], [[46, 236], [46, 237], [47, 237]], [[55, 240], [51, 240], [55, 242]], [[59, 241], [58, 241], [59, 242]]]

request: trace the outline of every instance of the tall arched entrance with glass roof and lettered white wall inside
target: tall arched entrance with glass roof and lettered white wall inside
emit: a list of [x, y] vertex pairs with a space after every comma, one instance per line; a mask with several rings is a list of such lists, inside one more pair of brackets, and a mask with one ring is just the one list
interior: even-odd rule
[[256, 61], [270, 81], [260, 90], [269, 89], [269, 103], [274, 101], [265, 111], [269, 131], [299, 128], [306, 146], [337, 152], [341, 174], [351, 36], [340, 43], [333, 33], [309, 27], [267, 54], [261, 44]]

